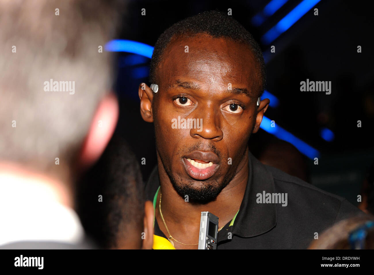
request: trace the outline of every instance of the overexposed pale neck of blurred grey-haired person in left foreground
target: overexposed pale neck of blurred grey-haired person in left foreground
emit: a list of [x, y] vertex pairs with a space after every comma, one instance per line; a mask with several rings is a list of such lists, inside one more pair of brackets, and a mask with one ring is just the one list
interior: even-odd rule
[[[69, 174], [69, 173], [67, 173]], [[0, 189], [18, 187], [17, 194], [11, 193], [8, 199], [22, 200], [22, 197], [36, 200], [53, 200], [73, 208], [73, 191], [71, 186], [57, 176], [45, 175], [16, 163], [0, 163]], [[4, 193], [6, 194], [6, 193]], [[8, 195], [6, 195], [8, 196]]]

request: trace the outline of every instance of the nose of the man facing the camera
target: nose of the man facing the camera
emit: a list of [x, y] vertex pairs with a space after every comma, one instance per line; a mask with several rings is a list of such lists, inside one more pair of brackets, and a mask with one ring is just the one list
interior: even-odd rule
[[223, 138], [223, 131], [220, 125], [220, 112], [214, 107], [204, 107], [204, 109], [196, 115], [197, 127], [190, 130], [193, 138], [205, 138], [207, 140], [220, 141]]

